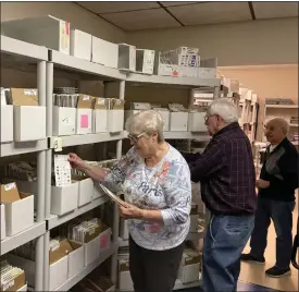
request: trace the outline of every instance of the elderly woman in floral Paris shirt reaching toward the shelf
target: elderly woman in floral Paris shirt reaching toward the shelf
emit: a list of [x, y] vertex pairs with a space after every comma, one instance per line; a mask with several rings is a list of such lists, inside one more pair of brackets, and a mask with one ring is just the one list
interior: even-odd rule
[[154, 110], [126, 122], [133, 147], [108, 171], [70, 155], [74, 168], [94, 180], [122, 185], [128, 219], [129, 269], [137, 292], [173, 291], [189, 231], [190, 172], [183, 156], [164, 141], [163, 119]]

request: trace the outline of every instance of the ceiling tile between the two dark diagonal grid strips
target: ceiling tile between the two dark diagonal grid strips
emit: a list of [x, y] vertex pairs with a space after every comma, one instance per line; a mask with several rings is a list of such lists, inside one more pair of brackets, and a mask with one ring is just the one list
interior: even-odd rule
[[204, 2], [167, 9], [185, 25], [251, 20], [247, 2]]

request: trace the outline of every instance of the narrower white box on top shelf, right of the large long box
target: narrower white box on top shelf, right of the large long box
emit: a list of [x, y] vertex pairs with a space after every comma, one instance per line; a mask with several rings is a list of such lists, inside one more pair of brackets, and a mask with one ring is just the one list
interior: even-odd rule
[[71, 31], [71, 54], [84, 59], [91, 60], [91, 35], [79, 29]]

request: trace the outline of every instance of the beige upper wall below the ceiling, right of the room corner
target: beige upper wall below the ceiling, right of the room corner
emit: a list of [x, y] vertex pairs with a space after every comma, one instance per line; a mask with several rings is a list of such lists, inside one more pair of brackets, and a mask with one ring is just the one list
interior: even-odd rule
[[298, 63], [298, 19], [148, 29], [128, 33], [127, 42], [162, 51], [197, 47], [223, 66]]

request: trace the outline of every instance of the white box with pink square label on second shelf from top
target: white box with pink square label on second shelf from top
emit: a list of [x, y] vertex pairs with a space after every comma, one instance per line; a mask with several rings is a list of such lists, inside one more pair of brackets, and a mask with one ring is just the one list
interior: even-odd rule
[[79, 95], [76, 117], [76, 134], [90, 134], [92, 127], [92, 97]]

